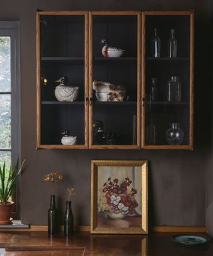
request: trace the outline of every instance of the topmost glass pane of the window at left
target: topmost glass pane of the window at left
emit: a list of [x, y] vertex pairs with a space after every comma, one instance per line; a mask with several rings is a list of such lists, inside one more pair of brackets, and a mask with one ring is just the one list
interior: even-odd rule
[[11, 91], [10, 37], [0, 37], [0, 91]]

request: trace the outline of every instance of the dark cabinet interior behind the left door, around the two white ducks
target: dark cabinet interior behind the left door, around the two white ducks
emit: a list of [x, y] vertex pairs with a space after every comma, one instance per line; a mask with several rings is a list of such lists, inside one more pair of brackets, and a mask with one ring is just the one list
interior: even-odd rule
[[[75, 147], [85, 145], [85, 17], [40, 16], [41, 145], [61, 145], [66, 130], [77, 136]], [[77, 101], [57, 100], [56, 81], [61, 77], [67, 77], [68, 86], [79, 87]]]

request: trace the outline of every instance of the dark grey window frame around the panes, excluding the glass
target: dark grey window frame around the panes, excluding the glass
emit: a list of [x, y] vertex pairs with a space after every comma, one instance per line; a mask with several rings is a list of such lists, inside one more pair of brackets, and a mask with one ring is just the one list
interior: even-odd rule
[[[0, 37], [11, 38], [11, 91], [0, 92], [11, 95], [11, 165], [14, 166], [19, 159], [21, 161], [21, 72], [20, 72], [20, 23], [19, 21], [0, 21]], [[12, 217], [19, 218], [20, 210], [20, 182], [18, 179], [15, 194], [12, 197], [15, 203]]]

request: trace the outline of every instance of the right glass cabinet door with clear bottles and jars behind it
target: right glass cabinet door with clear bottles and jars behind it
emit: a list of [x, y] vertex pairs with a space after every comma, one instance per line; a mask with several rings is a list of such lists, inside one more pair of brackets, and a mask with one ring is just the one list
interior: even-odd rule
[[142, 147], [192, 149], [193, 13], [145, 12]]

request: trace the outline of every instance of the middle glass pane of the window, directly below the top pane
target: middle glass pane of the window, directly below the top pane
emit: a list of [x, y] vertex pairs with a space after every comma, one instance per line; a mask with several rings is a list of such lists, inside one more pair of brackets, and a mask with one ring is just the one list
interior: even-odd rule
[[11, 95], [0, 95], [0, 148], [11, 147]]

